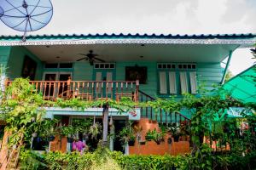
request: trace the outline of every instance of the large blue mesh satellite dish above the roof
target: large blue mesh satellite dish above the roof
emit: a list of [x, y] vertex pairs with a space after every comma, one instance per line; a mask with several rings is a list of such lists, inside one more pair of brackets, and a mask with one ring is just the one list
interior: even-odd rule
[[1, 0], [0, 20], [6, 26], [23, 31], [22, 41], [26, 41], [26, 32], [37, 31], [49, 23], [53, 14], [49, 0]]

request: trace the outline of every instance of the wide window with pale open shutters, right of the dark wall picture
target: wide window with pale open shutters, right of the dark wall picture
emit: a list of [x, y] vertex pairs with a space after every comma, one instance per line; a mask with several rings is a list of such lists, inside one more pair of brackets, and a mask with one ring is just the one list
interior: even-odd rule
[[157, 64], [160, 94], [196, 94], [195, 64]]

